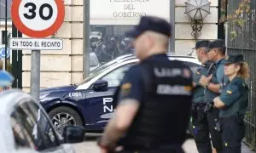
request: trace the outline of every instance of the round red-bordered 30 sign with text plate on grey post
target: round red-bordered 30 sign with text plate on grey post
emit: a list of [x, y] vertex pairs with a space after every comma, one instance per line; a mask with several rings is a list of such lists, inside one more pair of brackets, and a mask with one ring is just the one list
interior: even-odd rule
[[[62, 0], [35, 1], [15, 0], [11, 14], [17, 29], [28, 37], [49, 37], [57, 31], [64, 20], [65, 7]], [[31, 94], [39, 100], [40, 94], [40, 50], [59, 50], [62, 40], [11, 38], [12, 49], [31, 49]]]

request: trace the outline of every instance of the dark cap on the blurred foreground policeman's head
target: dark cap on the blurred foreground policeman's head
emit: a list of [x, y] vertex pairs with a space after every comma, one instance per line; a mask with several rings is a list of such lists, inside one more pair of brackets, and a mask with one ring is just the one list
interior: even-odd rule
[[155, 31], [171, 37], [171, 25], [166, 20], [153, 16], [143, 16], [139, 25], [135, 26], [133, 30], [126, 32], [125, 35], [137, 38], [144, 31]]

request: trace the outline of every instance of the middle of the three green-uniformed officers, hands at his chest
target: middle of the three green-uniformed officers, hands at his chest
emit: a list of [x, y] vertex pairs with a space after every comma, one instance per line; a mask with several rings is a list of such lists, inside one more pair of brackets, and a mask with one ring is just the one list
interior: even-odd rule
[[226, 46], [223, 40], [215, 40], [209, 43], [208, 59], [214, 62], [215, 70], [209, 77], [202, 76], [200, 83], [205, 88], [205, 102], [207, 103], [205, 112], [207, 113], [207, 122], [211, 134], [212, 145], [217, 152], [222, 150], [221, 133], [216, 125], [218, 122], [219, 110], [213, 106], [213, 99], [218, 97], [228, 78], [224, 75]]

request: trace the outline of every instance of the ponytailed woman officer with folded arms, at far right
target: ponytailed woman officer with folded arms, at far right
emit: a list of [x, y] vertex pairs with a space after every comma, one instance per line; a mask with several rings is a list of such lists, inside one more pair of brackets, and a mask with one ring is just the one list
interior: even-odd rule
[[243, 119], [248, 105], [245, 79], [249, 76], [249, 69], [242, 54], [228, 56], [224, 64], [224, 74], [229, 77], [229, 82], [213, 101], [215, 107], [220, 109], [223, 152], [241, 153], [241, 139], [245, 133]]

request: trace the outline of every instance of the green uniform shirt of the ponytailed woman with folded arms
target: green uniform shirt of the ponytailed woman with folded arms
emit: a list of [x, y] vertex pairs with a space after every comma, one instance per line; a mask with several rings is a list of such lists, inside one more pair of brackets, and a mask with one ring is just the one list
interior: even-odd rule
[[220, 94], [225, 107], [220, 110], [219, 116], [244, 115], [248, 105], [248, 87], [241, 77], [235, 77], [228, 82]]

